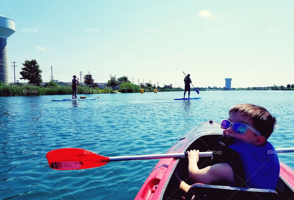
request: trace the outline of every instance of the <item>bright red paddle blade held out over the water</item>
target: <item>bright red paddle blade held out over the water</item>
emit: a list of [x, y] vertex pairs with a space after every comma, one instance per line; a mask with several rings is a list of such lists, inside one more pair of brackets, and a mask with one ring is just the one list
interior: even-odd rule
[[52, 150], [46, 154], [46, 157], [49, 166], [58, 170], [88, 169], [100, 167], [109, 162], [109, 157], [77, 148]]

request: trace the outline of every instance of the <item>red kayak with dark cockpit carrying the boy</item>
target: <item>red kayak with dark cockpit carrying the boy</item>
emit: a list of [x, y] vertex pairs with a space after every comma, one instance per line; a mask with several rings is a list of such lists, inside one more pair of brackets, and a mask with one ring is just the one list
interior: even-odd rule
[[[191, 149], [200, 152], [211, 151], [214, 141], [222, 135], [222, 129], [217, 122], [205, 122], [182, 136], [167, 153], [183, 153]], [[199, 166], [209, 165], [210, 157], [200, 158]], [[191, 199], [294, 199], [294, 171], [288, 165], [280, 162], [280, 177], [275, 190], [240, 188], [217, 185], [194, 185], [188, 193], [181, 191], [178, 184], [173, 183], [173, 172], [177, 169], [179, 178], [189, 180], [187, 158], [160, 159], [145, 183], [138, 192], [135, 200], [183, 200]]]

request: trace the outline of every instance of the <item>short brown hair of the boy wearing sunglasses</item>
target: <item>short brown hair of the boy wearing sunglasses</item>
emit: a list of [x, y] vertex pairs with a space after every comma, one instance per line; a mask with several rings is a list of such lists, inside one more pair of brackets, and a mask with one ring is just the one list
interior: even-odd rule
[[252, 118], [254, 128], [258, 130], [266, 140], [269, 138], [270, 134], [273, 133], [276, 118], [264, 107], [253, 104], [239, 104], [229, 110], [229, 114], [232, 112], [239, 112], [240, 114]]

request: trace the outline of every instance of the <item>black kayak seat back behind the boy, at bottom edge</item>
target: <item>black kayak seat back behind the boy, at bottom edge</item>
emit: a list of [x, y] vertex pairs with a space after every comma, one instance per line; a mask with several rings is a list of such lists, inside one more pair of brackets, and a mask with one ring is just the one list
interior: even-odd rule
[[218, 185], [201, 185], [194, 184], [190, 187], [185, 200], [192, 199], [217, 199], [217, 200], [242, 200], [242, 199], [279, 199], [279, 195], [274, 190], [244, 188], [244, 187], [229, 187]]

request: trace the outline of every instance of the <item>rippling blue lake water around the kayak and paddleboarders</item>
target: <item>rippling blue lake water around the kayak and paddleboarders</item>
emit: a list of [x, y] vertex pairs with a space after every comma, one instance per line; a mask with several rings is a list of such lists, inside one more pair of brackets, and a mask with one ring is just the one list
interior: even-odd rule
[[[209, 119], [220, 122], [240, 103], [266, 107], [277, 117], [269, 141], [294, 147], [292, 91], [200, 91], [191, 97], [201, 100], [173, 100], [182, 95], [91, 94], [87, 98], [100, 98], [76, 102], [51, 101], [70, 95], [0, 97], [0, 198], [134, 199], [158, 160], [57, 171], [48, 167], [46, 153], [65, 147], [104, 156], [165, 153], [186, 131]], [[293, 169], [292, 156], [279, 158]]]

